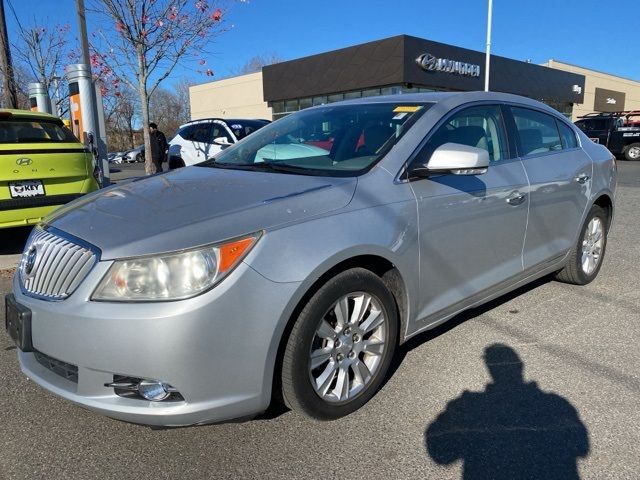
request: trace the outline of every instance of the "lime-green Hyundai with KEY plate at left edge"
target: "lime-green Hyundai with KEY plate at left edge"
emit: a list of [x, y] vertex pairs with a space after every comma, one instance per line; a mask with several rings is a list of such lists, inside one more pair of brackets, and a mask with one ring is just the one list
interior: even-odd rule
[[91, 152], [53, 115], [0, 110], [0, 228], [40, 222], [99, 188]]

